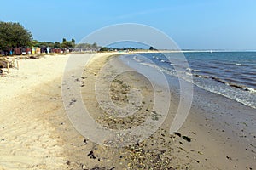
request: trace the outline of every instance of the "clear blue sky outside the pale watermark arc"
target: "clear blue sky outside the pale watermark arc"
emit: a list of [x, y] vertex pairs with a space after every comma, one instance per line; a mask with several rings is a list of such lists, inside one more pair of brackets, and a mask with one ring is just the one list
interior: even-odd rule
[[79, 42], [104, 26], [137, 23], [180, 48], [256, 49], [254, 0], [1, 0], [0, 20], [20, 22], [39, 41]]

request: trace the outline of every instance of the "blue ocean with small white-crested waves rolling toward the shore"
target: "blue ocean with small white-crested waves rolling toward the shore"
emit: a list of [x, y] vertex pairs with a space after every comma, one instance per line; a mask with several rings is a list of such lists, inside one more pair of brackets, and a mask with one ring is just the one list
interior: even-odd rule
[[134, 69], [148, 67], [166, 76], [179, 75], [199, 88], [256, 109], [256, 52], [125, 54], [120, 59]]

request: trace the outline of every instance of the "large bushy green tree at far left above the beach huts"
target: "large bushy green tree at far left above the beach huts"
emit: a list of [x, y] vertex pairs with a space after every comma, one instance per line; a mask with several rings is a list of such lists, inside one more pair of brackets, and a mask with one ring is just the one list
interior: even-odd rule
[[20, 23], [0, 22], [0, 48], [32, 46], [32, 34]]

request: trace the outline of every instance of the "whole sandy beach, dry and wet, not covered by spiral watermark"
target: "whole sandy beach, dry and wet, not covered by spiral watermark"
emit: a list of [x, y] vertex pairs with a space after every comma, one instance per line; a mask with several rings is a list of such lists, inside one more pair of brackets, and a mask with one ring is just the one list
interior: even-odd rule
[[[84, 103], [96, 122], [119, 129], [137, 126], [153, 111], [152, 86], [134, 72], [115, 77], [111, 97], [127, 104], [127, 92], [139, 88], [143, 105], [129, 119], [108, 116], [95, 96], [98, 71], [108, 61], [109, 74], [124, 65], [109, 56], [84, 54], [90, 65], [78, 80]], [[19, 60], [20, 68], [0, 77], [0, 169], [254, 169], [256, 167], [255, 116], [252, 108], [195, 87], [189, 117], [170, 134], [177, 111], [177, 89], [171, 87], [169, 115], [163, 125], [138, 144], [113, 148], [82, 136], [67, 117], [61, 98], [61, 78], [68, 55]], [[204, 102], [201, 102], [204, 101]], [[229, 104], [229, 105], [228, 105]], [[245, 123], [241, 112], [248, 116]], [[235, 123], [235, 124], [236, 124]]]

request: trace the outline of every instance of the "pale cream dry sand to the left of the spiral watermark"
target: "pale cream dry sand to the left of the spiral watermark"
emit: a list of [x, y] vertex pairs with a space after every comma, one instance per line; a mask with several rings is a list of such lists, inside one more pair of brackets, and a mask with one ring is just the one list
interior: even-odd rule
[[[19, 60], [20, 70], [10, 69], [9, 74], [0, 77], [3, 169], [58, 169], [65, 165], [55, 129], [40, 117], [50, 116], [51, 105], [41, 103], [41, 97], [54, 86], [49, 82], [61, 80], [66, 63], [67, 56]], [[46, 99], [49, 103], [53, 100], [48, 96]]]

